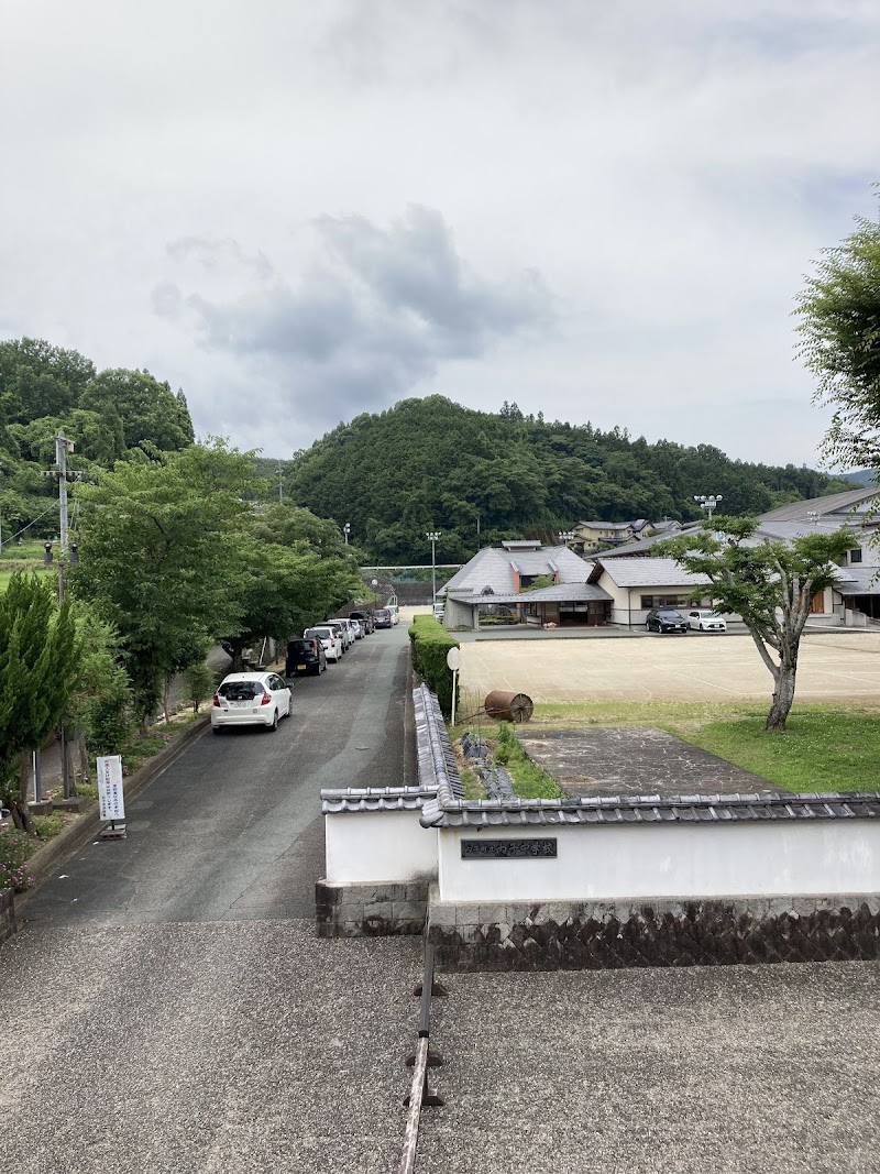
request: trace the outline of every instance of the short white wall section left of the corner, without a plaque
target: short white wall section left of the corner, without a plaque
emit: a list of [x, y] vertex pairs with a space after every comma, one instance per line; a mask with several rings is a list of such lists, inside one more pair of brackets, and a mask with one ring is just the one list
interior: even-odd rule
[[343, 811], [324, 816], [326, 879], [332, 884], [436, 876], [436, 831], [420, 811]]

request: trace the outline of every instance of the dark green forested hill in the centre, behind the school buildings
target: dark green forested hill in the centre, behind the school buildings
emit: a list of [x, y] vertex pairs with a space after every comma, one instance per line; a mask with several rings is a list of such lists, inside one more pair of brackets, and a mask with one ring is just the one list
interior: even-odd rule
[[[475, 412], [441, 396], [363, 414], [297, 453], [285, 490], [321, 518], [351, 524], [379, 562], [440, 562], [578, 520], [700, 515], [696, 493], [724, 495], [724, 512], [757, 514], [848, 488], [811, 468], [730, 460], [711, 445], [648, 444], [625, 431], [523, 416], [515, 404]], [[479, 528], [479, 533], [478, 533]]]

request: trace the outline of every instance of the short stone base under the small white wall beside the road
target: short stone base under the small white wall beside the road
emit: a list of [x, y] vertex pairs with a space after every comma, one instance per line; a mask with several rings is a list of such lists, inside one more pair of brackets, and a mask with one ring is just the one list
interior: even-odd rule
[[378, 938], [425, 932], [428, 882], [331, 884], [314, 886], [319, 938]]

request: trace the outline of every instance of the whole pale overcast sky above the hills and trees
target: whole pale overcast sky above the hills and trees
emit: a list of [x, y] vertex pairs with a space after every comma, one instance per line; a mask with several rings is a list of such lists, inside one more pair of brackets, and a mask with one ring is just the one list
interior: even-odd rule
[[0, 338], [286, 457], [441, 393], [817, 464], [875, 0], [0, 0]]

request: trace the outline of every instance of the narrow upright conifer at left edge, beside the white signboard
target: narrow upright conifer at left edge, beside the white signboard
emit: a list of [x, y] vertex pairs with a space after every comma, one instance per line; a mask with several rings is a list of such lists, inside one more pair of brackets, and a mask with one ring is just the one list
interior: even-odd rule
[[0, 798], [26, 831], [29, 754], [63, 714], [81, 654], [69, 603], [59, 608], [38, 575], [13, 574], [0, 594]]

